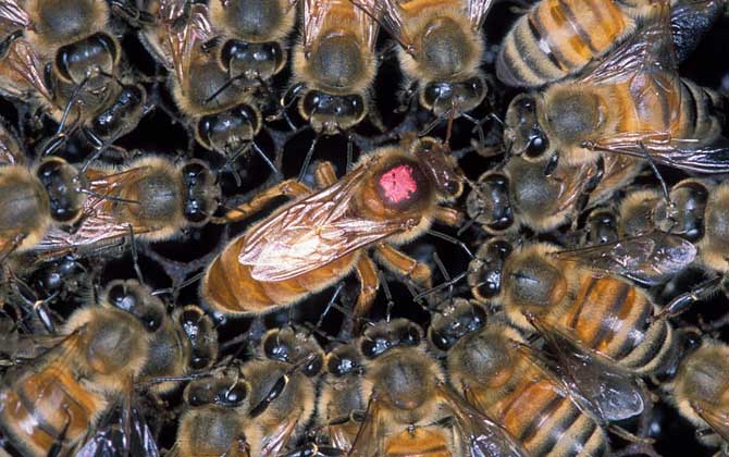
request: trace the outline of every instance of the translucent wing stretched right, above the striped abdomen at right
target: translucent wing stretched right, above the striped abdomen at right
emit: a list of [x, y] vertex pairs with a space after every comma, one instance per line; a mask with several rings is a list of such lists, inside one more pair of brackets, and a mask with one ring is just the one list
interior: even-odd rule
[[616, 243], [563, 250], [554, 257], [604, 275], [620, 275], [646, 285], [662, 284], [687, 268], [696, 247], [678, 235], [651, 232]]

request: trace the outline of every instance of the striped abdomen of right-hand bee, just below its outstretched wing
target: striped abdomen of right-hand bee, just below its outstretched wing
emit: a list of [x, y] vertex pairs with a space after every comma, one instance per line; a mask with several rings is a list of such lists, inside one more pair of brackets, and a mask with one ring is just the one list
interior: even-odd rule
[[634, 373], [648, 374], [672, 356], [672, 330], [665, 320], [648, 323], [653, 311], [653, 304], [634, 285], [588, 275], [563, 316], [549, 318], [586, 347]]

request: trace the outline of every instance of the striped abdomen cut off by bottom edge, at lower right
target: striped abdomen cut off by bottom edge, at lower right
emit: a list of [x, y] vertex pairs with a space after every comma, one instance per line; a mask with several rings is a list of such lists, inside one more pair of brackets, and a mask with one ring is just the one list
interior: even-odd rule
[[[526, 361], [532, 363], [531, 361]], [[534, 456], [607, 455], [605, 431], [535, 367], [515, 373], [485, 412]]]

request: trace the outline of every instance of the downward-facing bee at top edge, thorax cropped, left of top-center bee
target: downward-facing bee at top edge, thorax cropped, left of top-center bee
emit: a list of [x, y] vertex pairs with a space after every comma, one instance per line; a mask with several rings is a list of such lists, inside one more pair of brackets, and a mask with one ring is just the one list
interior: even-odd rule
[[297, 0], [211, 2], [210, 22], [221, 36], [218, 61], [231, 81], [260, 86], [286, 64], [284, 40], [294, 29]]

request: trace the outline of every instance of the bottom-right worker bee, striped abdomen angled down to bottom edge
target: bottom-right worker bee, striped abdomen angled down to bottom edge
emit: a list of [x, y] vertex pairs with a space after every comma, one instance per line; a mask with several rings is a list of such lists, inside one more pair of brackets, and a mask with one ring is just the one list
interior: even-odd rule
[[551, 371], [539, 351], [502, 322], [486, 325], [486, 312], [456, 299], [433, 318], [429, 338], [447, 353], [453, 387], [494, 418], [534, 456], [609, 454], [601, 423], [583, 411], [568, 384]]

